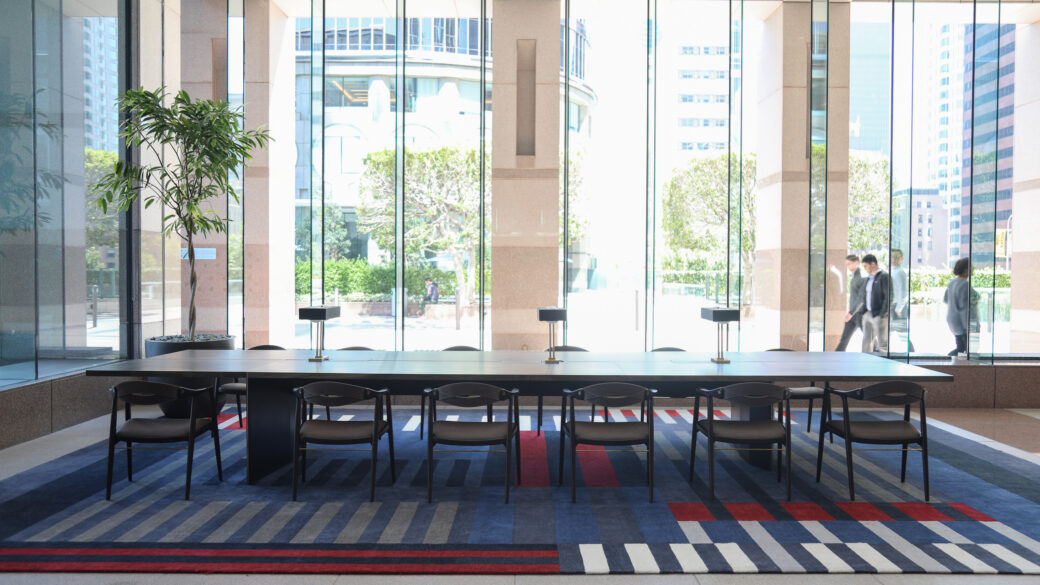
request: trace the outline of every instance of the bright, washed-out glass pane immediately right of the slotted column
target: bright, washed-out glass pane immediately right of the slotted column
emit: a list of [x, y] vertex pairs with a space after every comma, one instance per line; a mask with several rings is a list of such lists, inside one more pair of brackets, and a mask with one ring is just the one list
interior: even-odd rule
[[[569, 134], [563, 158], [568, 241], [561, 258], [566, 341], [589, 350], [642, 351], [652, 27], [646, 3], [571, 0], [569, 10], [572, 88], [563, 117]], [[721, 100], [725, 109], [725, 84], [721, 93], [691, 99]]]

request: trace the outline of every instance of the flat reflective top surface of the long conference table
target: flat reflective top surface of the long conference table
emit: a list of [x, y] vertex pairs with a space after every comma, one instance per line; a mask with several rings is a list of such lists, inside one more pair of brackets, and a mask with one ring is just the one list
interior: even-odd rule
[[732, 352], [730, 363], [711, 353], [524, 351], [328, 351], [312, 362], [308, 350], [188, 350], [125, 360], [86, 371], [88, 376], [237, 376], [254, 378], [483, 381], [953, 381], [953, 376], [879, 356], [853, 352]]

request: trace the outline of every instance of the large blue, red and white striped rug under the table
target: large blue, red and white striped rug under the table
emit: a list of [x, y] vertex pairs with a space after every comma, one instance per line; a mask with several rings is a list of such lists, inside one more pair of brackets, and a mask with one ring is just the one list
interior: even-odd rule
[[[933, 423], [932, 500], [911, 454], [901, 483], [894, 452], [855, 454], [849, 502], [844, 449], [827, 443], [814, 481], [817, 435], [796, 425], [794, 498], [771, 469], [706, 444], [686, 481], [693, 414], [658, 409], [655, 503], [645, 454], [578, 457], [578, 502], [557, 485], [558, 417], [536, 434], [522, 412], [523, 484], [503, 501], [504, 454], [437, 453], [425, 501], [418, 411], [395, 410], [397, 481], [381, 447], [375, 502], [367, 453], [311, 455], [300, 501], [289, 469], [245, 483], [245, 432], [222, 415], [225, 481], [212, 442], [200, 440], [191, 501], [184, 453], [137, 451], [134, 481], [118, 454], [104, 499], [105, 437], [0, 482], [0, 570], [384, 574], [1000, 573], [1040, 574], [1040, 458]], [[482, 413], [449, 413], [479, 419]], [[725, 416], [725, 410], [718, 413]], [[804, 411], [795, 412], [796, 423]], [[339, 409], [337, 418], [363, 416]], [[629, 410], [612, 417], [636, 419]], [[888, 418], [887, 411], [864, 417]], [[244, 422], [248, 428], [248, 415]], [[815, 427], [815, 424], [813, 425]], [[703, 441], [703, 438], [702, 438]]]

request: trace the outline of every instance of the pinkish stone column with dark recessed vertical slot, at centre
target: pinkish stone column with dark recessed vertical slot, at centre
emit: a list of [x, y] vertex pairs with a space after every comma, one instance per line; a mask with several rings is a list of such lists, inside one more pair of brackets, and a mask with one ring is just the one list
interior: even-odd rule
[[491, 349], [541, 351], [536, 308], [560, 299], [560, 1], [493, 8]]

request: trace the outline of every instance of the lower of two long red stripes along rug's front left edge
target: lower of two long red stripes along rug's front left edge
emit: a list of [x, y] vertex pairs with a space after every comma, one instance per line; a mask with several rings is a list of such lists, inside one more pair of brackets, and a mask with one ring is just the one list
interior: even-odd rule
[[37, 573], [279, 573], [279, 574], [447, 574], [447, 575], [525, 575], [556, 574], [560, 563], [198, 563], [198, 562], [122, 562], [53, 561], [0, 562], [0, 571]]

